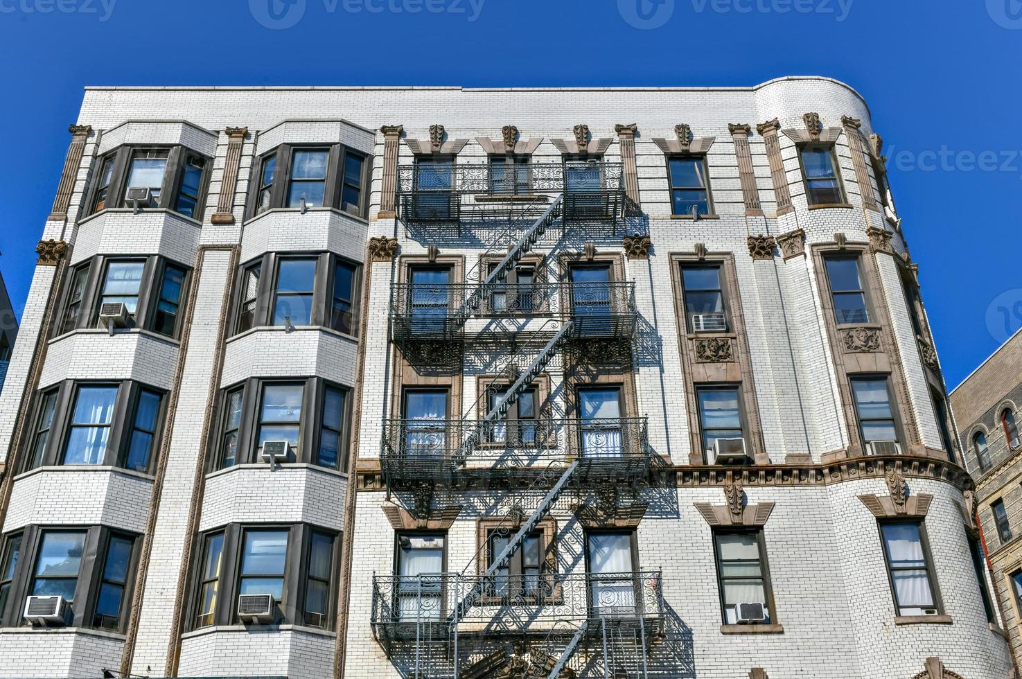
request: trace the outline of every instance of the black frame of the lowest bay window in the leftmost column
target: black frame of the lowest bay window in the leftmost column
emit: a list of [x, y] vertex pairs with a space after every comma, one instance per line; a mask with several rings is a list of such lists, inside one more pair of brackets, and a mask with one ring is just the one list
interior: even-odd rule
[[[75, 602], [71, 606], [67, 627], [85, 629], [102, 629], [124, 634], [128, 628], [128, 618], [131, 612], [132, 599], [135, 595], [135, 576], [138, 573], [138, 562], [141, 553], [141, 535], [130, 531], [112, 529], [106, 526], [64, 526], [64, 525], [30, 525], [12, 531], [3, 536], [3, 550], [14, 537], [21, 540], [21, 553], [17, 559], [14, 578], [6, 605], [0, 609], [0, 626], [22, 627], [28, 623], [22, 618], [27, 597], [32, 595], [35, 582], [35, 571], [39, 560], [39, 550], [43, 538], [48, 533], [82, 533], [85, 536], [84, 548], [75, 591]], [[117, 628], [96, 626], [96, 605], [99, 602], [103, 572], [106, 569], [107, 547], [111, 538], [124, 538], [132, 541], [128, 560], [128, 571], [123, 585], [121, 597], [120, 619]]]

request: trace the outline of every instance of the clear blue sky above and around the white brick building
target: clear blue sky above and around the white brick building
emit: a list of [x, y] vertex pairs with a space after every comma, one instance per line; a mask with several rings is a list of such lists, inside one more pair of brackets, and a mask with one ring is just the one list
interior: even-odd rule
[[1022, 2], [655, 2], [0, 0], [0, 272], [15, 311], [86, 85], [746, 86], [820, 74], [863, 93], [887, 142], [948, 387], [1022, 325]]

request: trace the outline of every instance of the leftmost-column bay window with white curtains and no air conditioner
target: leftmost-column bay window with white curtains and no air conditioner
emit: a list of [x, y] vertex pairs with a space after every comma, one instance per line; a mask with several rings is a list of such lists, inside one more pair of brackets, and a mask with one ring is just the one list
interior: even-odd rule
[[138, 382], [62, 382], [37, 395], [24, 470], [55, 464], [149, 472], [162, 422], [162, 394]]

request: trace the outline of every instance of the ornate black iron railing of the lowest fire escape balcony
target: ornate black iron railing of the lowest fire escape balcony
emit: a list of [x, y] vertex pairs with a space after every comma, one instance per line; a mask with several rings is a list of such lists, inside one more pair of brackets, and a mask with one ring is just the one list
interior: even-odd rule
[[[469, 592], [484, 594], [453, 617]], [[547, 634], [557, 623], [609, 620], [655, 628], [663, 619], [663, 578], [634, 573], [540, 573], [476, 576], [453, 573], [373, 576], [370, 622], [390, 640], [415, 639], [422, 628], [460, 634]], [[598, 626], [593, 626], [594, 632]]]

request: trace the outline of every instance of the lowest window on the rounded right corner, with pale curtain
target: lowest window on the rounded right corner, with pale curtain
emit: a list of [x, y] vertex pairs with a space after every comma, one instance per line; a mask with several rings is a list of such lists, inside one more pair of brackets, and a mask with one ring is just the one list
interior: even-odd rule
[[880, 534], [897, 615], [935, 615], [936, 592], [922, 524], [881, 524]]

